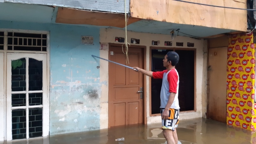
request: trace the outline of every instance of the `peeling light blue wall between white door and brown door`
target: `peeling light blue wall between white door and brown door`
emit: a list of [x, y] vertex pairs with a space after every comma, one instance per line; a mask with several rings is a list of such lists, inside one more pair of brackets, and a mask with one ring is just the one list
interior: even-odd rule
[[[100, 128], [100, 28], [0, 20], [0, 28], [50, 31], [50, 135]], [[81, 36], [94, 36], [94, 45]]]

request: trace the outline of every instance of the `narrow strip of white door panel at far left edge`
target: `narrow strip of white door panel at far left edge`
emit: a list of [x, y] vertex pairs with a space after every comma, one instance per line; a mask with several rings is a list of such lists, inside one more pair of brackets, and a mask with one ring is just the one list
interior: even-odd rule
[[0, 52], [0, 141], [4, 140], [4, 53]]

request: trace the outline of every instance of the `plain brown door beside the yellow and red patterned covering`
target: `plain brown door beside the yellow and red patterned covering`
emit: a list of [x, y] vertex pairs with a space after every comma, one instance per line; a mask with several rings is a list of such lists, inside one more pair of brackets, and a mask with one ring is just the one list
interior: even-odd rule
[[209, 49], [208, 118], [226, 123], [227, 47]]

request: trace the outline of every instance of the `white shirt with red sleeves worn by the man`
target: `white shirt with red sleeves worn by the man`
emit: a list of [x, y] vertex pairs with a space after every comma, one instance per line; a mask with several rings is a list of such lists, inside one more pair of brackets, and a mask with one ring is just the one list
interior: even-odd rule
[[163, 79], [161, 93], [160, 93], [160, 98], [161, 98], [160, 108], [165, 108], [169, 100], [170, 93], [173, 92], [173, 93], [176, 93], [176, 95], [173, 100], [172, 106], [170, 108], [180, 109], [179, 100], [178, 100], [179, 74], [177, 70], [174, 68], [169, 71], [164, 70], [159, 72], [153, 72], [153, 78]]

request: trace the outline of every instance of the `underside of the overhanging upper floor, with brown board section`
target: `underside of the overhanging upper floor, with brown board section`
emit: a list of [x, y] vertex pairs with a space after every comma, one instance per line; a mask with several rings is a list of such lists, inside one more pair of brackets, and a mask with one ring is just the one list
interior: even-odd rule
[[[15, 11], [13, 11], [15, 9]], [[124, 14], [90, 12], [69, 8], [33, 4], [0, 3], [0, 20], [39, 23], [71, 24], [86, 27], [117, 28], [125, 30]], [[176, 24], [156, 20], [128, 18], [128, 31], [169, 35], [180, 29], [179, 36], [210, 37], [235, 32], [231, 29]], [[185, 33], [185, 34], [184, 34]]]

